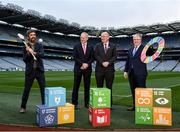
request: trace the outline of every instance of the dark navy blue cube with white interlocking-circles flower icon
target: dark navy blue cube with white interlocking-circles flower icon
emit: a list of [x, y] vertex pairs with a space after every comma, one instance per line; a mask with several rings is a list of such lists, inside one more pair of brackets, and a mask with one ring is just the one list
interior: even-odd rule
[[36, 123], [40, 127], [57, 125], [57, 107], [36, 105]]

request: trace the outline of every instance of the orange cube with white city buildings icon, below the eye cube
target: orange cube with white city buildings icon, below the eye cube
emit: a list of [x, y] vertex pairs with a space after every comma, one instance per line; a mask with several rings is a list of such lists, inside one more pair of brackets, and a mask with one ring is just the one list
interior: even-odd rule
[[171, 108], [154, 107], [154, 125], [172, 126]]

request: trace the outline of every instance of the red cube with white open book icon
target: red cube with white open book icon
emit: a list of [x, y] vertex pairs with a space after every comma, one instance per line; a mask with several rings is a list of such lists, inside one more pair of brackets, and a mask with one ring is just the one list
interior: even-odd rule
[[110, 126], [110, 108], [89, 107], [89, 121], [92, 126]]

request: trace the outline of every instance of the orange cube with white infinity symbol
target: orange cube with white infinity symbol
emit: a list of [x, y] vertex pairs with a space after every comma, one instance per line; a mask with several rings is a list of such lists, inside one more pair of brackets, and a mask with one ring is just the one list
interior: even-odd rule
[[136, 88], [135, 89], [135, 105], [143, 107], [153, 106], [153, 89], [152, 88]]

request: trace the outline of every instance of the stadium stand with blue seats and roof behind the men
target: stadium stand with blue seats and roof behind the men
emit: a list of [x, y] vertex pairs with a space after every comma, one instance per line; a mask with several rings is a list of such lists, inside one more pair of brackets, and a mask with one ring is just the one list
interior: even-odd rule
[[[45, 49], [44, 65], [46, 71], [73, 70], [72, 49], [79, 43], [81, 32], [90, 35], [89, 44], [95, 46], [100, 42], [99, 35], [107, 31], [111, 35], [111, 42], [117, 46], [116, 70], [124, 70], [127, 51], [131, 47], [132, 35], [143, 34], [145, 45], [151, 38], [161, 36], [166, 41], [166, 47], [160, 57], [147, 65], [150, 71], [180, 71], [180, 22], [168, 24], [154, 24], [126, 28], [97, 29], [92, 26], [81, 27], [78, 23], [69, 23], [51, 15], [41, 16], [34, 10], [24, 11], [22, 7], [8, 3], [0, 4], [0, 70], [24, 70], [22, 60], [22, 42], [17, 33], [26, 35], [26, 30], [37, 30], [38, 38]], [[153, 46], [154, 51], [157, 45]], [[95, 62], [93, 63], [93, 69]]]

